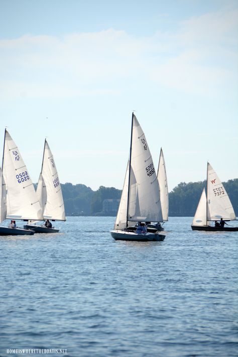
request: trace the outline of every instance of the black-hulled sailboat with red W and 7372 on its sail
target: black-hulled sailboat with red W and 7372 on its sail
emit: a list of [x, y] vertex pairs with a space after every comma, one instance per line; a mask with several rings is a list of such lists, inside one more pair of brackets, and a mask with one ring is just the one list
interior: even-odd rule
[[207, 195], [203, 188], [197, 210], [192, 222], [193, 230], [208, 231], [238, 231], [238, 227], [210, 225], [219, 219], [224, 221], [236, 220], [230, 199], [211, 165], [207, 163]]

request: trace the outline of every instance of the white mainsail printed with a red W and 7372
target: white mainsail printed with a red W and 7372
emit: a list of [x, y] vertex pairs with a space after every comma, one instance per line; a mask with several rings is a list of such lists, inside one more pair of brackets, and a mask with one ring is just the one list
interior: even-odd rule
[[207, 220], [236, 219], [229, 197], [211, 165], [207, 163]]

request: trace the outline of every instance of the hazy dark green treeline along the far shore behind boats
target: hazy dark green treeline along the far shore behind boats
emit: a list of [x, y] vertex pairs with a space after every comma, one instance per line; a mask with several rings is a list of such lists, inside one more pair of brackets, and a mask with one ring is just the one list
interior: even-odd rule
[[[238, 179], [223, 182], [236, 215], [238, 215]], [[100, 186], [93, 191], [82, 184], [61, 184], [67, 216], [115, 216], [122, 190]], [[169, 193], [169, 216], [192, 217], [206, 181], [181, 182]]]

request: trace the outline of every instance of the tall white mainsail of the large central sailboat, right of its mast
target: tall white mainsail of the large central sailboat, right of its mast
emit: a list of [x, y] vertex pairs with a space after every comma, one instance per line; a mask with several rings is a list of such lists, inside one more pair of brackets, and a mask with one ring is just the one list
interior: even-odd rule
[[163, 221], [160, 189], [151, 153], [133, 114], [128, 220]]

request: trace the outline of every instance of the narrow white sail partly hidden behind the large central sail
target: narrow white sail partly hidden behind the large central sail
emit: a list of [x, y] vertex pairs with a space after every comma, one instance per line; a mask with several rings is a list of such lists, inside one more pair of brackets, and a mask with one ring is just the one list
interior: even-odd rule
[[165, 160], [164, 160], [164, 154], [162, 148], [160, 151], [160, 160], [159, 160], [157, 177], [160, 187], [160, 202], [161, 202], [163, 221], [167, 221], [169, 216], [169, 192], [168, 192], [167, 175], [165, 169]]

